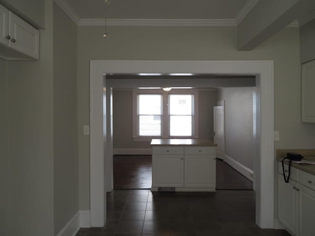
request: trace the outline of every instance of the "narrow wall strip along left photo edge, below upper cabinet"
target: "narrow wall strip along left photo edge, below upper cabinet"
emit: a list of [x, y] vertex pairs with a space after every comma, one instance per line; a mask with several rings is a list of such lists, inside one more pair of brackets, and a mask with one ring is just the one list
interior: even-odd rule
[[1, 234], [8, 235], [9, 230], [9, 158], [8, 158], [8, 80], [7, 62], [0, 59], [0, 229]]

